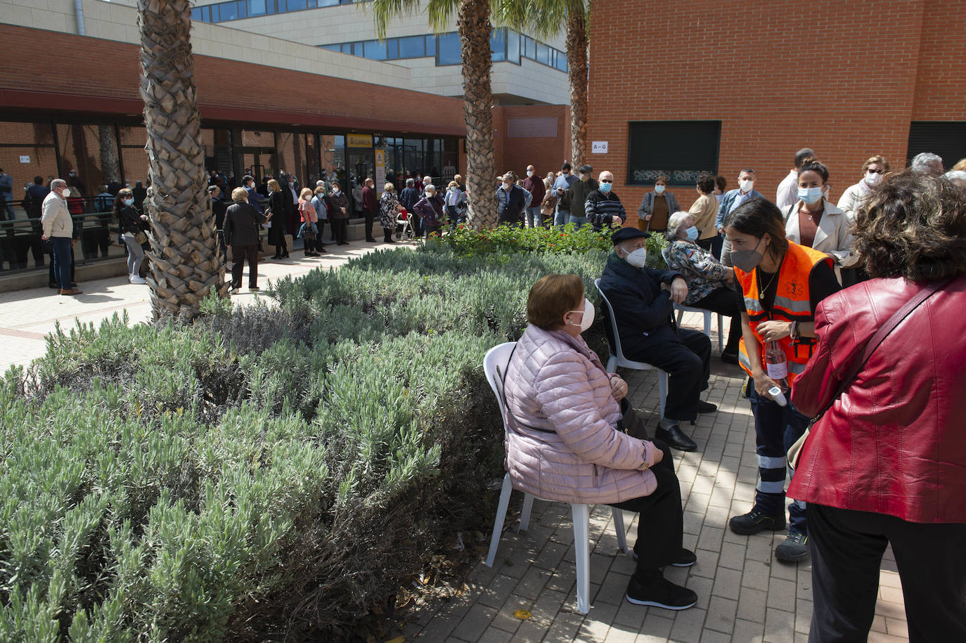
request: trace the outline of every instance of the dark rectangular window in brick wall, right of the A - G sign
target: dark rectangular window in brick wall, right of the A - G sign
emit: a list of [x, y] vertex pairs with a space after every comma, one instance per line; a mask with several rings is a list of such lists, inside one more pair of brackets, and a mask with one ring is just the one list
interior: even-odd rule
[[628, 124], [627, 178], [649, 185], [666, 175], [676, 185], [694, 185], [718, 174], [721, 121], [639, 121]]

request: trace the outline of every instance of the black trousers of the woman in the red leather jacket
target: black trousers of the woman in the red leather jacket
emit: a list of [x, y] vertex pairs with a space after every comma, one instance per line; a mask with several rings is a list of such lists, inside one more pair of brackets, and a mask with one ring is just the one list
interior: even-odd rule
[[809, 640], [865, 641], [875, 615], [879, 566], [893, 545], [909, 640], [966, 641], [966, 523], [908, 522], [809, 505]]

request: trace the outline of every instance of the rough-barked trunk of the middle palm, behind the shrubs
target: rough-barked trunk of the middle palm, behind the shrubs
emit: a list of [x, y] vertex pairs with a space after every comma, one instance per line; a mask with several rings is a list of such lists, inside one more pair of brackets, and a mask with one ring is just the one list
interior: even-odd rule
[[493, 94], [489, 0], [460, 0], [464, 117], [467, 122], [467, 219], [474, 228], [497, 227], [493, 161]]

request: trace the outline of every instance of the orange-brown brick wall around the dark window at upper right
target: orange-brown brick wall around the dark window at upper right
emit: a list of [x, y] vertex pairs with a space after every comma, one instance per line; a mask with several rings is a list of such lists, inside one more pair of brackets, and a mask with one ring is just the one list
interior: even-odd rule
[[[587, 141], [609, 153], [587, 158], [629, 211], [651, 189], [626, 184], [629, 121], [722, 121], [719, 172], [736, 187], [753, 167], [772, 199], [811, 147], [838, 199], [868, 156], [904, 163], [910, 121], [966, 120], [966, 16], [942, 0], [617, 0], [608, 15], [591, 19]], [[669, 189], [683, 207], [696, 198]]]

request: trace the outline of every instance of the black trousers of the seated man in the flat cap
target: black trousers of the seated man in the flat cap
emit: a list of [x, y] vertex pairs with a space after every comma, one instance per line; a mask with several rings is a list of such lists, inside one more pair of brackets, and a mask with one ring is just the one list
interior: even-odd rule
[[699, 330], [679, 328], [681, 342], [659, 342], [639, 354], [627, 353], [630, 359], [653, 364], [668, 373], [668, 420], [696, 420], [697, 401], [708, 387], [711, 376], [711, 340]]

